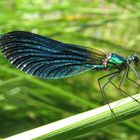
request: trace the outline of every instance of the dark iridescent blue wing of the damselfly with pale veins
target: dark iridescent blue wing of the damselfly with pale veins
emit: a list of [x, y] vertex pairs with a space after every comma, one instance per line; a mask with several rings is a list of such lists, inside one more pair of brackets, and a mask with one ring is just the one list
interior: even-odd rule
[[17, 68], [48, 79], [69, 77], [94, 69], [106, 58], [104, 53], [94, 49], [64, 44], [24, 31], [3, 35], [0, 49]]

